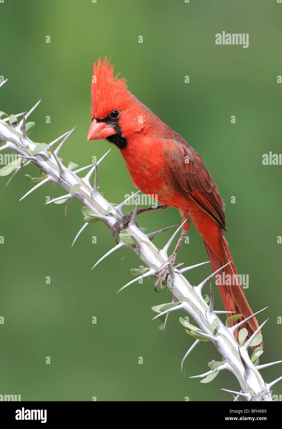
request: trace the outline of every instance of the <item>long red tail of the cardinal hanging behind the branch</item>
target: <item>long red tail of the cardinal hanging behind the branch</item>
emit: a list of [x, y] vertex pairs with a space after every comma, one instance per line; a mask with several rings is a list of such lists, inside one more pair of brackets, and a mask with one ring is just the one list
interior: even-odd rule
[[[219, 227], [219, 240], [220, 240], [220, 246], [221, 246], [221, 254], [222, 258], [219, 259], [216, 254], [213, 253], [210, 246], [207, 244], [207, 242], [204, 241], [204, 245], [206, 247], [206, 251], [208, 254], [208, 257], [210, 259], [210, 265], [212, 266], [213, 271], [218, 270], [220, 267], [224, 266], [228, 262], [232, 260], [228, 244], [225, 239], [225, 236], [223, 235], [222, 229]], [[231, 262], [228, 266], [226, 266], [222, 271], [220, 271], [216, 275], [216, 284], [219, 287], [219, 292], [222, 297], [223, 305], [225, 307], [225, 310], [229, 311], [235, 311], [236, 314], [243, 314], [243, 318], [246, 319], [246, 317], [249, 317], [253, 314], [252, 309], [249, 306], [249, 303], [246, 299], [245, 293], [243, 291], [243, 287], [240, 284], [240, 280], [238, 278], [234, 263]], [[233, 313], [233, 314], [235, 314]], [[232, 314], [228, 313], [227, 317], [232, 316]], [[243, 320], [243, 318], [231, 323], [231, 326], [240, 322], [240, 320]], [[248, 338], [258, 329], [258, 321], [255, 317], [252, 317], [252, 319], [248, 320], [242, 328], [246, 328], [249, 332]], [[240, 329], [242, 329], [240, 328]], [[240, 329], [237, 329], [234, 333], [235, 338], [238, 338], [238, 331]], [[263, 341], [261, 341], [261, 344], [259, 344], [260, 347], [262, 347]], [[256, 346], [257, 347], [257, 346]]]

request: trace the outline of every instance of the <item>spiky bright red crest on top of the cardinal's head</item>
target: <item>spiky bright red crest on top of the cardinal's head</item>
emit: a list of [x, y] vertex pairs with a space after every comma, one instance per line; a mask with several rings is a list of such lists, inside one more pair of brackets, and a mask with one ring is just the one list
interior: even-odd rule
[[125, 109], [131, 93], [127, 90], [126, 79], [114, 77], [114, 66], [104, 58], [93, 64], [91, 83], [91, 118], [104, 119], [111, 110]]

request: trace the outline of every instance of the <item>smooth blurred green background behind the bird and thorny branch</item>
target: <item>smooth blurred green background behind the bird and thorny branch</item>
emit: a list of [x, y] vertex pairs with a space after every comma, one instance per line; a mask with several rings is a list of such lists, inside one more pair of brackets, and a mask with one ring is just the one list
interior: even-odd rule
[[[107, 55], [132, 93], [203, 157], [226, 204], [227, 239], [237, 272], [249, 274], [246, 296], [254, 311], [269, 305], [258, 318], [270, 317], [261, 363], [282, 356], [277, 323], [282, 316], [282, 245], [277, 244], [282, 167], [262, 165], [262, 154], [281, 152], [281, 14], [276, 0], [0, 4], [0, 75], [9, 78], [0, 90], [0, 109], [16, 114], [42, 98], [30, 118], [36, 122], [30, 135], [34, 141], [50, 142], [78, 124], [61, 151], [64, 163], [84, 166], [108, 150], [104, 140], [86, 140], [93, 61]], [[215, 45], [215, 34], [223, 30], [249, 33], [249, 48]], [[220, 360], [212, 344], [200, 344], [186, 360], [185, 374], [180, 372], [192, 344], [178, 321], [185, 314], [171, 314], [164, 332], [158, 329], [163, 320], [151, 321], [151, 307], [171, 301], [168, 290], [156, 294], [153, 282], [146, 280], [116, 295], [132, 279], [129, 269], [139, 266], [137, 255], [119, 251], [90, 272], [114, 245], [109, 230], [93, 224], [71, 248], [83, 224], [81, 205], [72, 201], [66, 218], [64, 205], [45, 206], [46, 196], [62, 195], [51, 184], [18, 202], [32, 186], [24, 173], [38, 175], [36, 167], [28, 166], [6, 188], [8, 178], [0, 178], [0, 236], [5, 239], [0, 245], [0, 316], [5, 317], [0, 394], [21, 394], [23, 401], [233, 399], [220, 390], [238, 389], [228, 372], [210, 384], [189, 378], [207, 371], [210, 360]], [[99, 167], [99, 185], [110, 202], [135, 190], [115, 147]], [[179, 222], [173, 208], [138, 219], [149, 231]], [[158, 236], [156, 245], [161, 247], [170, 234]], [[189, 239], [177, 259], [185, 266], [207, 260], [193, 226]], [[207, 265], [187, 278], [197, 284], [210, 272]], [[51, 284], [45, 284], [46, 276]], [[215, 294], [216, 308], [223, 309], [216, 289]], [[46, 356], [51, 365], [45, 364]], [[268, 382], [280, 374], [279, 367], [262, 373]], [[281, 391], [280, 382], [274, 393]]]

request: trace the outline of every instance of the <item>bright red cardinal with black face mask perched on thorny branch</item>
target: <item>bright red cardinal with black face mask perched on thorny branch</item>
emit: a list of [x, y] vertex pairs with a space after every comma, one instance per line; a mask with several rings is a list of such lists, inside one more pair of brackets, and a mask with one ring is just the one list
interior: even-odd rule
[[[94, 63], [92, 124], [87, 140], [107, 139], [114, 143], [120, 149], [133, 184], [145, 194], [157, 194], [159, 202], [177, 208], [183, 221], [187, 219], [171, 262], [189, 231], [190, 216], [204, 240], [212, 269], [216, 271], [232, 260], [223, 234], [223, 230], [227, 232], [225, 205], [216, 184], [195, 150], [140, 103], [127, 89], [126, 80], [118, 79], [118, 75], [114, 77], [113, 71], [114, 66], [106, 57], [102, 63], [100, 58]], [[234, 263], [223, 271], [225, 278], [229, 274], [236, 279], [232, 286], [219, 286], [225, 310], [249, 317], [253, 312], [235, 277]], [[252, 335], [258, 329], [255, 317], [245, 327], [249, 336]]]

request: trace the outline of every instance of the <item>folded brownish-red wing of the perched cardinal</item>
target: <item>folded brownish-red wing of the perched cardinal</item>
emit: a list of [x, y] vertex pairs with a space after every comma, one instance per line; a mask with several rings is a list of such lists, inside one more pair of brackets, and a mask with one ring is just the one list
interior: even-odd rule
[[163, 174], [176, 192], [187, 196], [210, 215], [225, 231], [224, 202], [201, 157], [185, 140], [164, 145]]

